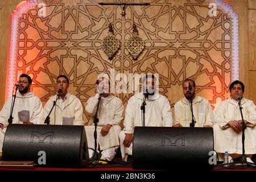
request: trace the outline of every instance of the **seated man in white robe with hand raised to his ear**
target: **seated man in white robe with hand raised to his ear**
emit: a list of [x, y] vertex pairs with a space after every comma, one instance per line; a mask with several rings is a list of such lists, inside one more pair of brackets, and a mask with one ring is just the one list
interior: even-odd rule
[[94, 92], [95, 96], [88, 99], [85, 107], [86, 112], [92, 116], [88, 126], [85, 126], [89, 157], [92, 158], [95, 148], [93, 117], [96, 114], [98, 98], [101, 96], [97, 112], [97, 152], [101, 151], [101, 159], [112, 161], [119, 147], [118, 134], [121, 131], [123, 104], [118, 97], [110, 94], [110, 82], [106, 77], [98, 78]]

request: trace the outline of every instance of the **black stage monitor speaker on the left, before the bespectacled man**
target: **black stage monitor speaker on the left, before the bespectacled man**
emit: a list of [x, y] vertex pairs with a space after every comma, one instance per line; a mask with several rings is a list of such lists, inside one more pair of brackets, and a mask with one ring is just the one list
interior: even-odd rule
[[43, 166], [86, 167], [89, 154], [84, 126], [10, 124], [3, 160], [35, 161]]

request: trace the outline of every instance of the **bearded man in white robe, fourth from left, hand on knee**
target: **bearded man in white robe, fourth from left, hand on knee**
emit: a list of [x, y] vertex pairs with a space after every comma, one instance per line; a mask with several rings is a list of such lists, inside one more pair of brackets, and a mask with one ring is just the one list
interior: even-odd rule
[[[120, 132], [120, 148], [122, 159], [127, 162], [127, 156], [132, 155], [133, 131], [135, 126], [143, 126], [142, 102], [146, 98], [144, 126], [172, 126], [170, 103], [166, 97], [156, 93], [156, 77], [146, 75], [142, 79], [142, 92], [135, 94], [127, 103], [125, 110], [124, 129]], [[151, 90], [151, 92], [147, 92]], [[148, 97], [147, 97], [148, 96]]]

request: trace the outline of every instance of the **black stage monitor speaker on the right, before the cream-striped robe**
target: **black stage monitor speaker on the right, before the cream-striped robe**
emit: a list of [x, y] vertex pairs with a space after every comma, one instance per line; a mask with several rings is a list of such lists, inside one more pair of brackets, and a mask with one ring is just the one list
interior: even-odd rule
[[133, 168], [210, 170], [213, 150], [209, 127], [135, 127]]

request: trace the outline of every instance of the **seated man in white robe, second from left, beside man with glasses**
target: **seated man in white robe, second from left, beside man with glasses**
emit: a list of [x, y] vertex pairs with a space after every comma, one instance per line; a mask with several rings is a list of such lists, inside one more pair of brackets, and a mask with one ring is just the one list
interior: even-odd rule
[[[82, 103], [76, 96], [68, 93], [69, 80], [65, 75], [57, 77], [58, 94], [49, 98], [43, 109], [42, 121], [46, 121], [53, 102], [56, 102], [49, 115], [50, 125], [84, 125], [82, 120]], [[59, 96], [58, 96], [59, 95]]]

